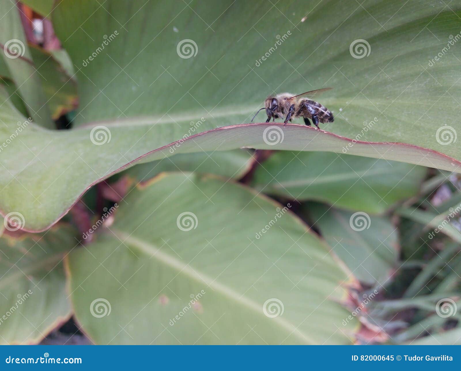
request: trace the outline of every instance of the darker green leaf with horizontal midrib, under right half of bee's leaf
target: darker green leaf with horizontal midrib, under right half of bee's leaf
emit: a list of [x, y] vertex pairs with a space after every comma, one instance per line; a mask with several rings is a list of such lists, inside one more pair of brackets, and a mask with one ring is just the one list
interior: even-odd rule
[[426, 169], [329, 152], [277, 152], [254, 173], [258, 191], [381, 213], [417, 194]]

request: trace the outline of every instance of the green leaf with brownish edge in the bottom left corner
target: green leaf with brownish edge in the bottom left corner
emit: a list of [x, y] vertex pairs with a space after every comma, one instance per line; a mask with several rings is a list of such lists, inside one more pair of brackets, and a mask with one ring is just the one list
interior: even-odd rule
[[[11, 231], [21, 215], [13, 220]], [[41, 235], [9, 230], [0, 238], [0, 343], [38, 343], [71, 314], [63, 260], [78, 243], [68, 226]]]

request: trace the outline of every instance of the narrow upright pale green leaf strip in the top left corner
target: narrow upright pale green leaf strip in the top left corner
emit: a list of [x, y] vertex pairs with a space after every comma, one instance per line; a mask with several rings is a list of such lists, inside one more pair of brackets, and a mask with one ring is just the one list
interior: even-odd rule
[[[46, 128], [54, 128], [47, 99], [41, 87], [40, 75], [35, 70], [32, 55], [25, 41], [25, 35], [16, 1], [0, 2], [0, 46], [2, 58], [21, 94], [29, 116]], [[8, 77], [7, 75], [6, 77]], [[3, 106], [6, 99], [0, 99]]]

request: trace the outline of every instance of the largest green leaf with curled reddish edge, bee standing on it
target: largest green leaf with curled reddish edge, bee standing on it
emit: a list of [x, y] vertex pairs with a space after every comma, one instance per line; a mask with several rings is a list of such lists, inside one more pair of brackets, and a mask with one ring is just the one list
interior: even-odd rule
[[[353, 5], [349, 1], [330, 1], [316, 7], [313, 2], [302, 6], [284, 2], [269, 9], [264, 24], [272, 26], [265, 30], [259, 23], [248, 29], [249, 24], [261, 19], [265, 2], [204, 1], [189, 6], [180, 2], [179, 9], [175, 1], [167, 5], [154, 1], [59, 3], [53, 23], [79, 71], [81, 104], [74, 120], [79, 128], [71, 133], [49, 133], [30, 125], [30, 133], [8, 146], [9, 155], [5, 152], [0, 168], [0, 210], [4, 214], [20, 211], [26, 216], [27, 230], [42, 230], [62, 216], [90, 185], [156, 149], [142, 161], [162, 159], [172, 153], [246, 146], [346, 151], [461, 171], [458, 146], [454, 141], [439, 144], [445, 138], [443, 131], [437, 134], [437, 142], [437, 126], [426, 118], [429, 115], [435, 120], [438, 116], [434, 110], [438, 114], [442, 109], [445, 123], [456, 128], [452, 120], [458, 117], [460, 108], [451, 95], [456, 96], [458, 85], [451, 85], [460, 74], [458, 62], [454, 63], [451, 54], [446, 53], [431, 68], [429, 72], [441, 87], [423, 84], [431, 77], [420, 70], [420, 64], [436, 55], [443, 40], [457, 30], [458, 18], [444, 10], [443, 4], [434, 6], [430, 1], [403, 7], [397, 2], [370, 1], [366, 10]], [[294, 23], [298, 23], [297, 28], [284, 17], [293, 12], [298, 17]], [[306, 21], [299, 23], [308, 13]], [[370, 14], [386, 23], [388, 32], [370, 21]], [[205, 23], [212, 29], [207, 29]], [[426, 25], [431, 32], [426, 32]], [[281, 35], [283, 43], [277, 35]], [[353, 58], [349, 52], [350, 43], [358, 38], [368, 38], [372, 45], [370, 55], [361, 59]], [[198, 48], [190, 58], [184, 58], [189, 57], [182, 43], [186, 39], [193, 40]], [[274, 52], [270, 47], [276, 41], [281, 45], [277, 44]], [[193, 43], [189, 45], [195, 48]], [[270, 58], [253, 67], [266, 52]], [[309, 82], [300, 78], [290, 64], [302, 76], [309, 76]], [[351, 138], [412, 145], [352, 143], [300, 125], [233, 125], [216, 129], [248, 122], [273, 90], [298, 93], [325, 84], [335, 90], [325, 95], [322, 103], [333, 110], [337, 120], [323, 128]], [[434, 99], [437, 104], [427, 110], [428, 102]], [[1, 110], [0, 114], [8, 117], [9, 127], [3, 126], [0, 131], [0, 143], [10, 138], [18, 121], [24, 120], [12, 114], [6, 103]], [[426, 116], [418, 120], [425, 112]], [[194, 130], [190, 122], [194, 122]], [[102, 130], [106, 132], [106, 144], [93, 145], [90, 133], [93, 137], [100, 133], [100, 126], [105, 127]], [[211, 129], [215, 130], [192, 136]], [[184, 137], [189, 138], [183, 142]], [[98, 139], [104, 141], [104, 136]], [[164, 147], [180, 139], [180, 143]]]

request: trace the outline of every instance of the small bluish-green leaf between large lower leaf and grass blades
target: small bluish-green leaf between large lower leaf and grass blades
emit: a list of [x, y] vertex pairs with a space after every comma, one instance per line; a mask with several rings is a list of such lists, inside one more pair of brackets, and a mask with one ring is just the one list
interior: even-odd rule
[[399, 253], [396, 228], [387, 218], [309, 203], [305, 212], [351, 272], [369, 285], [384, 285]]

